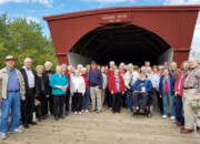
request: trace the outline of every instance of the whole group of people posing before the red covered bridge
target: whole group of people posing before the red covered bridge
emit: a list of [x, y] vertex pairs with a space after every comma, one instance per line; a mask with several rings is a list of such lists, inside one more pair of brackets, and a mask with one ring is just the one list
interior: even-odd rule
[[[71, 111], [81, 115], [89, 112], [106, 111], [104, 104], [112, 113], [120, 113], [121, 106], [128, 113], [146, 113], [149, 100], [157, 100], [160, 114], [168, 117], [168, 100], [170, 119], [181, 126], [181, 133], [194, 130], [194, 111], [191, 100], [200, 99], [200, 66], [198, 60], [190, 58], [181, 69], [176, 62], [164, 62], [153, 65], [146, 61], [144, 65], [133, 66], [113, 61], [109, 65], [91, 64], [57, 65], [52, 63], [31, 68], [32, 60], [24, 59], [24, 65], [16, 69], [17, 59], [8, 55], [6, 68], [0, 70], [0, 103], [1, 103], [1, 138], [7, 138], [8, 120], [11, 110], [10, 134], [21, 134], [19, 128], [20, 111], [23, 128], [37, 125], [36, 119], [42, 121], [50, 115], [54, 120], [64, 119]], [[64, 107], [66, 105], [66, 107]], [[64, 112], [63, 112], [64, 111]], [[183, 111], [183, 113], [182, 113]]]

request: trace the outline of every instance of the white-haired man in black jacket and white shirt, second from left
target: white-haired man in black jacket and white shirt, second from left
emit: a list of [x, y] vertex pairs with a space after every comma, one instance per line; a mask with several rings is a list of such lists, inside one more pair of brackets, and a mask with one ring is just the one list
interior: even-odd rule
[[32, 113], [34, 110], [34, 97], [38, 96], [39, 89], [37, 73], [31, 69], [31, 65], [32, 60], [27, 58], [24, 59], [24, 66], [20, 69], [26, 85], [26, 101], [21, 102], [21, 121], [24, 128], [29, 128], [28, 124], [37, 124], [32, 121]]

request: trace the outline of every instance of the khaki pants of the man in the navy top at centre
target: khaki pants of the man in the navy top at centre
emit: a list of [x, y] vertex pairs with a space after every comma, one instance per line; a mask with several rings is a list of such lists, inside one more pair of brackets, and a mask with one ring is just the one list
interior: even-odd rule
[[101, 92], [99, 91], [98, 86], [90, 86], [90, 95], [91, 95], [91, 102], [92, 102], [92, 111], [96, 110], [96, 101], [97, 101], [97, 110], [101, 111], [102, 103], [101, 103]]

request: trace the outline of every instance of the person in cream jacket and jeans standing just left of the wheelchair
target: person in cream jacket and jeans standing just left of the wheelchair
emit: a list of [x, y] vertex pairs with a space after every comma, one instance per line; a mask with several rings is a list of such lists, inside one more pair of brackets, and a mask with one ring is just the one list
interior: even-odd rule
[[124, 85], [127, 89], [127, 104], [128, 104], [128, 113], [132, 111], [132, 89], [136, 83], [136, 81], [139, 79], [139, 73], [133, 71], [132, 63], [128, 64], [128, 71], [123, 76], [124, 79]]

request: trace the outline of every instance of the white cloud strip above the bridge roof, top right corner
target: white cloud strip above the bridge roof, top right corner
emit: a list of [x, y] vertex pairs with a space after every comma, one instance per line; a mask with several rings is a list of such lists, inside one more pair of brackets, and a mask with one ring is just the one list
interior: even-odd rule
[[164, 4], [200, 4], [200, 0], [166, 0]]

